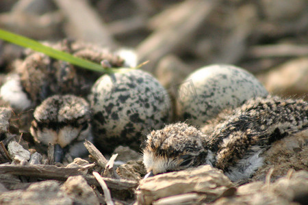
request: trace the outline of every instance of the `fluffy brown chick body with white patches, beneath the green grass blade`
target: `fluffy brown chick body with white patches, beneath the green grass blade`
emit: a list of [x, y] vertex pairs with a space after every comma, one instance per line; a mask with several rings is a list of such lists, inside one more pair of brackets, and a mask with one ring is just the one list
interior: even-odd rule
[[[68, 40], [44, 44], [97, 64], [103, 61], [112, 68], [131, 66], [127, 61], [133, 66], [136, 65], [133, 52], [130, 54], [125, 49], [115, 53], [92, 44]], [[75, 94], [86, 98], [93, 83], [100, 76], [101, 72], [81, 69], [43, 53], [28, 51], [22, 63], [16, 64], [14, 72], [8, 74], [7, 80], [1, 86], [0, 96], [10, 102], [14, 109], [25, 111], [40, 105], [44, 99], [54, 94]]]

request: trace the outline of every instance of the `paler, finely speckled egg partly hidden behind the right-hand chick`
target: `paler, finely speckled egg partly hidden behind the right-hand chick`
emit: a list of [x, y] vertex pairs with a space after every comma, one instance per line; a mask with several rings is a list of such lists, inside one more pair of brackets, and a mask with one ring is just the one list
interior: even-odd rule
[[268, 91], [251, 74], [232, 65], [210, 65], [190, 74], [179, 86], [177, 114], [196, 126], [223, 109], [235, 108]]

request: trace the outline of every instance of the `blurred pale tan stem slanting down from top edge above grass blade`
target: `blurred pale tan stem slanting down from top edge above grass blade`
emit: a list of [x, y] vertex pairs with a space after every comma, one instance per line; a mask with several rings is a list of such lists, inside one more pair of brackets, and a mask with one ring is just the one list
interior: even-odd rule
[[70, 24], [68, 36], [98, 43], [113, 48], [116, 42], [112, 39], [105, 24], [97, 12], [85, 0], [54, 0], [57, 6], [66, 14]]

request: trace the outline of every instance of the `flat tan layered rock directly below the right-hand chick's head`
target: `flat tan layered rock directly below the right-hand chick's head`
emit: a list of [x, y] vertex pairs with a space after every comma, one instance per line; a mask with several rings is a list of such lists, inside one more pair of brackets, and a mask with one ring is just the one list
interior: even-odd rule
[[207, 196], [205, 202], [212, 202], [230, 187], [233, 187], [232, 182], [221, 170], [203, 165], [142, 180], [137, 191], [137, 200], [140, 204], [151, 204], [162, 197], [203, 193]]

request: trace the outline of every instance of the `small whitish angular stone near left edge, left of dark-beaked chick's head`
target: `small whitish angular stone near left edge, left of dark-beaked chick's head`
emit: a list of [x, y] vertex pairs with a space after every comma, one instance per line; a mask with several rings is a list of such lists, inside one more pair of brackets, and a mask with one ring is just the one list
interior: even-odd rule
[[8, 144], [8, 152], [15, 163], [22, 163], [30, 159], [30, 152], [25, 150], [23, 146], [16, 141], [10, 141]]

